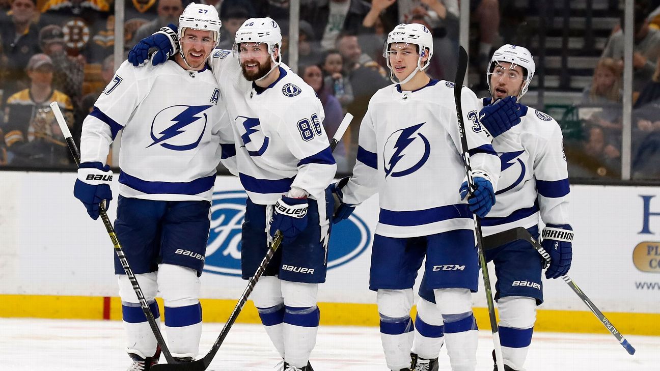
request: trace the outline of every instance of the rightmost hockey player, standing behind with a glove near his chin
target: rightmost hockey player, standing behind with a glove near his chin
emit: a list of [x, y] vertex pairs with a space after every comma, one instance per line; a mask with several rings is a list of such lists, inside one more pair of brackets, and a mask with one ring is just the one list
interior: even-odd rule
[[[572, 259], [572, 234], [571, 238], [556, 238], [555, 233], [572, 230], [568, 219], [568, 171], [558, 123], [547, 114], [518, 103], [534, 72], [529, 50], [513, 45], [495, 51], [486, 71], [490, 96], [481, 102], [480, 119], [494, 137], [492, 145], [500, 156], [502, 173], [500, 190], [496, 192], [498, 202], [481, 225], [484, 236], [522, 226], [539, 238], [541, 217], [545, 223], [542, 244], [551, 257], [545, 277], [556, 279], [568, 273]], [[464, 184], [461, 192], [465, 191]], [[486, 250], [485, 257], [495, 264], [504, 368], [524, 371], [536, 306], [543, 302], [543, 259], [524, 241]], [[420, 288], [420, 296], [418, 310], [432, 306], [434, 296], [428, 286]], [[422, 335], [423, 328], [418, 326], [413, 351], [420, 356], [437, 357], [442, 337], [429, 333], [442, 333], [442, 329], [430, 327]]]

